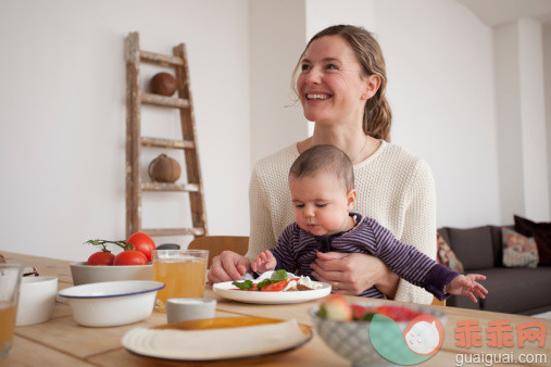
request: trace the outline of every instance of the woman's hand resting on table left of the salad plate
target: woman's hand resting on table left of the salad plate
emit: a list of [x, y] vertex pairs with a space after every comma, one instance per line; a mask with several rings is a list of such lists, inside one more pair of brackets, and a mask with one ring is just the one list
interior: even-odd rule
[[250, 270], [251, 263], [245, 256], [233, 251], [223, 251], [218, 256], [212, 258], [208, 278], [211, 284], [241, 280], [241, 277]]

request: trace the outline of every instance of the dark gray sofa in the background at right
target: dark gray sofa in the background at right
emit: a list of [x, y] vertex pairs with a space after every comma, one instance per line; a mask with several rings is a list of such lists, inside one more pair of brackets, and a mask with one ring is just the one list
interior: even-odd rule
[[489, 291], [478, 303], [452, 295], [447, 306], [522, 315], [551, 311], [551, 266], [504, 267], [501, 227], [443, 227], [438, 232], [462, 262], [465, 273], [487, 277], [481, 283]]

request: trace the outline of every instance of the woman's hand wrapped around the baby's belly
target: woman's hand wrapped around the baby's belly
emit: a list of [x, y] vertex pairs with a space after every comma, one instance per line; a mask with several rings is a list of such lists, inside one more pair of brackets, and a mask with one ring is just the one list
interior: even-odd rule
[[400, 278], [379, 258], [358, 253], [317, 253], [310, 265], [317, 280], [333, 286], [333, 292], [356, 295], [373, 286], [393, 299]]

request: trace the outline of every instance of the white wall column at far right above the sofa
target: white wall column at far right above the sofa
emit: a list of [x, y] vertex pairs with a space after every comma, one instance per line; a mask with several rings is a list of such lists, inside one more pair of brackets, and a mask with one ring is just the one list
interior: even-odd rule
[[494, 36], [501, 216], [548, 222], [542, 26], [523, 18], [496, 27]]

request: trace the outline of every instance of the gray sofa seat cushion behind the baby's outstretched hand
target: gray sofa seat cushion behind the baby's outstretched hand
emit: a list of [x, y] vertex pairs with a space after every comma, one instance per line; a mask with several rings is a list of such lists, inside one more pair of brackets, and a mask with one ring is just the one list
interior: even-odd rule
[[[551, 305], [551, 269], [492, 268], [479, 269], [486, 276], [480, 283], [488, 289], [480, 309], [509, 314], [529, 314], [530, 309], [544, 309]], [[471, 302], [471, 301], [469, 301]]]

